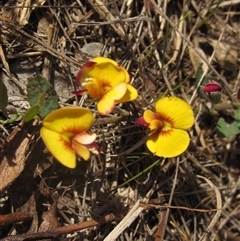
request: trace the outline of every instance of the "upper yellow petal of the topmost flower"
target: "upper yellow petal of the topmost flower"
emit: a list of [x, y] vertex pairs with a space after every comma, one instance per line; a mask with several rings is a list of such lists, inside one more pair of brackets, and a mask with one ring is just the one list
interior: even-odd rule
[[[96, 60], [95, 58], [92, 61], [96, 62], [98, 59]], [[86, 68], [84, 73], [86, 79], [93, 78], [101, 82], [99, 85], [110, 85], [112, 87], [123, 82], [128, 83], [130, 80], [128, 72], [123, 67], [116, 65], [116, 62], [113, 60], [98, 61], [95, 65]]]

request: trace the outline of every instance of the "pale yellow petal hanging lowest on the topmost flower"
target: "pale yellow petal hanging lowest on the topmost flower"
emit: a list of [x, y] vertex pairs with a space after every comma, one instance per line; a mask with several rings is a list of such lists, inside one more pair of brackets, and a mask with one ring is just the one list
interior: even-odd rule
[[102, 115], [107, 115], [115, 108], [117, 98], [121, 98], [126, 92], [127, 85], [121, 83], [113, 89], [107, 91], [97, 104], [98, 112]]

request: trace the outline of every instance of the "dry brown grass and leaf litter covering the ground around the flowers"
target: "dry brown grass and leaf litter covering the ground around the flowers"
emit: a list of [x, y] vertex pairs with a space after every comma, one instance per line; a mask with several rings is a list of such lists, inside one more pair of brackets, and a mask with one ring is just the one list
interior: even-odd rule
[[[239, 135], [217, 136], [219, 120], [226, 126], [239, 120], [239, 7], [238, 1], [5, 1], [1, 240], [109, 240], [112, 232], [116, 240], [239, 240]], [[139, 98], [121, 106], [130, 114], [119, 110], [97, 121], [105, 152], [68, 170], [46, 151], [39, 119], [6, 121], [8, 107], [25, 114], [29, 79], [41, 75], [60, 106], [94, 110], [71, 94], [78, 69], [94, 54], [128, 69]], [[199, 95], [206, 79], [223, 86], [216, 112]], [[135, 120], [173, 89], [191, 103], [195, 126], [187, 152], [158, 160], [142, 145], [146, 134]], [[35, 90], [30, 104], [42, 105], [45, 90]], [[129, 211], [137, 216], [129, 219]]]

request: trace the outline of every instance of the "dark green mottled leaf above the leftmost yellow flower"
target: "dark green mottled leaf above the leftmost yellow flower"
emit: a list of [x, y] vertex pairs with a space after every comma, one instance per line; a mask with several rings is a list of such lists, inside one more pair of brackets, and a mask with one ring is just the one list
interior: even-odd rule
[[58, 96], [53, 86], [42, 76], [29, 78], [27, 91], [29, 104], [40, 106], [38, 114], [42, 118], [59, 108]]

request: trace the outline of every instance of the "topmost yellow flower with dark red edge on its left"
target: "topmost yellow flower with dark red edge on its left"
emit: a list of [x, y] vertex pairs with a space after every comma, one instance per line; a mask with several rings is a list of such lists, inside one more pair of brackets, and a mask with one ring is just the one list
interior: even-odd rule
[[96, 57], [83, 65], [78, 72], [77, 81], [82, 88], [75, 94], [87, 93], [96, 99], [100, 114], [109, 114], [116, 104], [137, 98], [137, 90], [129, 84], [126, 69], [118, 66], [112, 59]]

